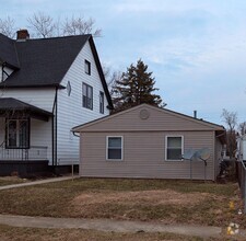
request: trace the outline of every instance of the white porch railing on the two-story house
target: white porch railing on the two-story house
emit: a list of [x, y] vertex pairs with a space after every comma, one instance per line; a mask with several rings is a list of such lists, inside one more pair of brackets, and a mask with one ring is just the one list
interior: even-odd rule
[[5, 149], [2, 145], [0, 148], [0, 160], [47, 160], [47, 150], [48, 147], [42, 146], [31, 146], [30, 149]]

